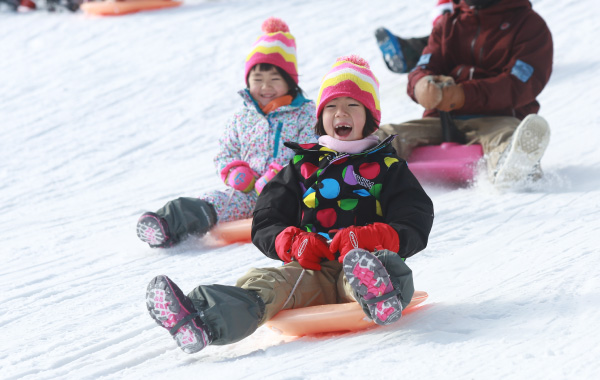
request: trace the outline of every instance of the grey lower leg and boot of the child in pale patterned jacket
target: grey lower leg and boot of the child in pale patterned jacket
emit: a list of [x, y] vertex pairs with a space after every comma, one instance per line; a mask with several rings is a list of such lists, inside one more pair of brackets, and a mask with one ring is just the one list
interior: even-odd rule
[[199, 198], [178, 198], [156, 213], [144, 213], [137, 224], [138, 237], [150, 247], [170, 247], [188, 234], [202, 236], [217, 222], [213, 206]]

